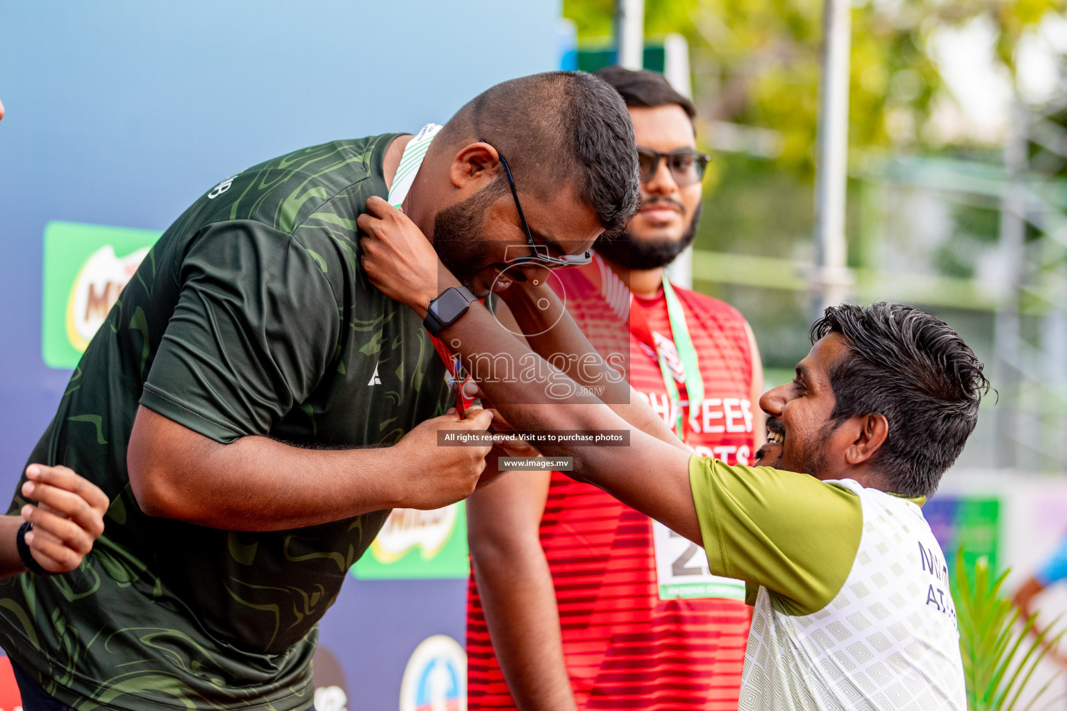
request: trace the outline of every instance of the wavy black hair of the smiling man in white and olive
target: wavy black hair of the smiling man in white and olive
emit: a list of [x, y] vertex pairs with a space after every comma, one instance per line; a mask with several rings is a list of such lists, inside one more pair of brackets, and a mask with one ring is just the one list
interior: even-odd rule
[[982, 362], [943, 321], [901, 304], [832, 306], [812, 325], [812, 343], [828, 334], [848, 346], [830, 368], [831, 420], [883, 415], [889, 435], [875, 462], [892, 491], [933, 495], [974, 431], [989, 390]]

